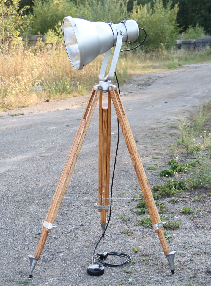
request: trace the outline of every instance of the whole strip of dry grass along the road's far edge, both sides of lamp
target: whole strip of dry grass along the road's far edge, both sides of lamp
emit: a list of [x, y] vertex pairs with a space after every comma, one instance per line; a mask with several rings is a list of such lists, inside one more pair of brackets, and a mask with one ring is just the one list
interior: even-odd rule
[[[103, 56], [75, 71], [64, 46], [46, 51], [42, 46], [0, 55], [0, 110], [13, 109], [89, 93], [98, 80]], [[132, 74], [143, 74], [179, 67], [184, 63], [210, 60], [210, 50], [146, 54], [121, 53], [117, 66], [120, 83]]]

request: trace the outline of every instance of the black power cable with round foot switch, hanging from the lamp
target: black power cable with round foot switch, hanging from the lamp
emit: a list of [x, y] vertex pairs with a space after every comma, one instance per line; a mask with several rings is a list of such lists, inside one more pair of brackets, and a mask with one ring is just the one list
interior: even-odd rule
[[[121, 50], [120, 52], [132, 51], [134, 49], [137, 49], [138, 47], [140, 47], [144, 43], [144, 41], [147, 38], [147, 33], [146, 33], [146, 31], [143, 28], [139, 28], [139, 30], [143, 30], [144, 31], [144, 33], [145, 33], [144, 40], [140, 44], [138, 44], [138, 46], [133, 47], [131, 49]], [[115, 77], [116, 77], [116, 82], [117, 82], [117, 86], [118, 86], [118, 90], [119, 90], [119, 94], [120, 94], [119, 81], [118, 81], [118, 78], [117, 78], [117, 75], [116, 75], [116, 71], [114, 72], [114, 74], [115, 74]], [[98, 267], [94, 267], [94, 268], [90, 267], [91, 269], [89, 269], [88, 273], [91, 274], [91, 275], [101, 275], [101, 274], [103, 274], [104, 273], [104, 269], [103, 269], [103, 271], [101, 270], [101, 268], [103, 267], [102, 265], [104, 265], [104, 266], [120, 266], [120, 265], [123, 265], [123, 264], [128, 263], [128, 262], [131, 261], [131, 256], [129, 254], [122, 253], [122, 252], [108, 252], [108, 253], [107, 252], [103, 252], [103, 253], [95, 254], [97, 246], [100, 243], [100, 240], [104, 237], [104, 234], [105, 234], [105, 232], [106, 232], [106, 230], [108, 228], [108, 224], [109, 224], [110, 219], [111, 219], [111, 206], [112, 206], [112, 200], [111, 199], [112, 199], [112, 190], [113, 190], [113, 182], [114, 182], [114, 172], [115, 172], [115, 167], [116, 167], [116, 158], [117, 158], [118, 147], [119, 147], [119, 119], [118, 118], [117, 118], [117, 128], [118, 128], [118, 136], [117, 136], [117, 144], [116, 144], [116, 155], [115, 155], [115, 160], [114, 160], [114, 169], [113, 169], [113, 175], [112, 175], [112, 180], [111, 180], [111, 195], [110, 195], [109, 218], [108, 218], [108, 223], [106, 225], [106, 228], [103, 231], [103, 234], [101, 235], [100, 239], [98, 240], [98, 242], [97, 242], [97, 244], [95, 246], [95, 249], [93, 251], [93, 256], [92, 256], [92, 265], [96, 265], [96, 261], [99, 262], [100, 265]], [[124, 257], [125, 260], [123, 262], [119, 262], [119, 263], [116, 263], [116, 264], [115, 263], [109, 263], [109, 262], [106, 262], [106, 258], [108, 257], [108, 255]]]

